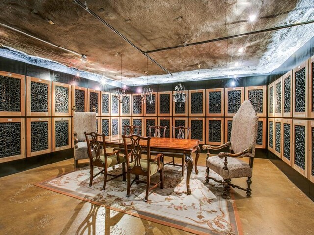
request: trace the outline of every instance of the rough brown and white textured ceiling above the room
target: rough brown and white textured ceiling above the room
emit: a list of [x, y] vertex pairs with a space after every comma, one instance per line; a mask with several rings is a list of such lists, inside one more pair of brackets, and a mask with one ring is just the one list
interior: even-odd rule
[[[314, 19], [313, 0], [86, 2], [89, 9], [144, 51], [183, 44], [184, 35], [187, 35], [186, 39], [190, 42], [198, 42]], [[120, 80], [120, 56], [116, 54], [122, 53], [123, 83], [146, 83], [146, 57], [72, 0], [2, 0], [0, 7], [6, 9], [1, 12], [0, 23], [78, 54], [85, 54], [87, 62], [83, 63], [77, 54], [0, 27], [0, 43], [4, 47], [79, 70], [105, 74], [114, 80]], [[251, 14], [257, 15], [256, 21], [248, 20]], [[52, 20], [54, 24], [49, 24], [48, 20]], [[313, 28], [313, 24], [307, 24], [183, 47], [181, 80], [269, 73], [314, 36]], [[238, 52], [240, 47], [244, 47], [243, 53]], [[21, 56], [21, 53], [18, 54]], [[149, 62], [149, 83], [179, 80], [179, 49], [155, 52], [150, 56], [171, 71], [173, 77]], [[51, 65], [51, 61], [35, 61], [39, 65], [43, 63], [45, 67]], [[235, 66], [235, 63], [238, 63], [238, 66]], [[52, 68], [56, 69], [58, 65], [55, 63]]]

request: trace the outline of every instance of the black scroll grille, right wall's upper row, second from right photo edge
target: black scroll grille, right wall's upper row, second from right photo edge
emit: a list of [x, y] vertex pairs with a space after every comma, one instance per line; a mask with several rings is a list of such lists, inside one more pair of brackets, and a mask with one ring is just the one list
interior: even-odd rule
[[295, 73], [295, 112], [305, 112], [305, 67]]

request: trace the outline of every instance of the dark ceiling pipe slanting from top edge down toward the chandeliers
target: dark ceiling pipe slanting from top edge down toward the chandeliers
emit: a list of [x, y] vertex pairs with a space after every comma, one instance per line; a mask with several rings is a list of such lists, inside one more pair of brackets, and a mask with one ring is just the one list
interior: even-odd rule
[[135, 49], [137, 49], [139, 52], [141, 52], [143, 55], [145, 55], [147, 58], [149, 58], [152, 62], [154, 62], [155, 64], [157, 64], [157, 66], [159, 66], [162, 70], [166, 71], [167, 73], [169, 73], [172, 76], [172, 73], [170, 71], [168, 71], [166, 68], [164, 68], [162, 65], [160, 65], [159, 63], [157, 63], [156, 60], [152, 59], [150, 56], [148, 56], [146, 54], [145, 51], [141, 50], [139, 47], [137, 47], [134, 43], [132, 43], [126, 36], [124, 36], [122, 33], [120, 33], [118, 30], [116, 30], [114, 27], [112, 27], [110, 24], [108, 24], [105, 20], [103, 20], [100, 16], [98, 16], [95, 12], [93, 12], [92, 10], [90, 10], [87, 5], [83, 4], [81, 1], [79, 0], [73, 0], [75, 3], [77, 3], [81, 8], [83, 8], [84, 10], [86, 10], [89, 14], [91, 14], [92, 16], [94, 16], [96, 19], [98, 19], [100, 22], [102, 22], [103, 24], [105, 24], [107, 27], [109, 27], [113, 32], [115, 32], [116, 34], [118, 34], [121, 38], [123, 38], [127, 43], [129, 43], [132, 47], [134, 47]]

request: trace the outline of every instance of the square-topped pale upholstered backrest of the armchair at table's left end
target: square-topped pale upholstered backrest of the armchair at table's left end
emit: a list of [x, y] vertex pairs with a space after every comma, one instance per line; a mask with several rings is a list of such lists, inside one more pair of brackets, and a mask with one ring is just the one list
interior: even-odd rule
[[90, 133], [96, 130], [95, 112], [74, 112], [73, 113], [73, 131], [77, 133], [78, 141], [84, 141], [84, 132]]

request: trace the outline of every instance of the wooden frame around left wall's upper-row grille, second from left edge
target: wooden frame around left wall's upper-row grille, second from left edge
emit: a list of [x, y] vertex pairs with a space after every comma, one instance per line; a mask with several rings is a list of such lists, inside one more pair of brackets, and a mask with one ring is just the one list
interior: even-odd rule
[[[31, 112], [31, 82], [48, 84], [48, 112]], [[51, 81], [26, 77], [26, 115], [27, 116], [51, 116]]]

